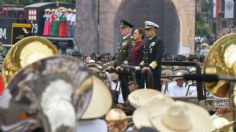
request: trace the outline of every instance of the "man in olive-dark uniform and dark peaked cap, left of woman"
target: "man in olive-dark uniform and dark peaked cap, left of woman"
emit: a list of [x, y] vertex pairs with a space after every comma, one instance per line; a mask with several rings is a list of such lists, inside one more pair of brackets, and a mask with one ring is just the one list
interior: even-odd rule
[[[132, 48], [132, 45], [134, 43], [133, 37], [131, 36], [133, 25], [125, 20], [120, 21], [120, 33], [121, 33], [121, 41], [119, 43], [117, 58], [115, 60], [114, 66], [116, 66], [116, 70], [122, 68], [120, 67], [121, 64], [124, 63], [124, 61], [130, 62], [130, 51]], [[122, 95], [123, 99], [126, 101], [129, 90], [128, 90], [128, 81], [129, 80], [129, 74], [128, 73], [122, 73], [119, 74], [119, 80], [120, 80], [120, 86], [122, 89]]]

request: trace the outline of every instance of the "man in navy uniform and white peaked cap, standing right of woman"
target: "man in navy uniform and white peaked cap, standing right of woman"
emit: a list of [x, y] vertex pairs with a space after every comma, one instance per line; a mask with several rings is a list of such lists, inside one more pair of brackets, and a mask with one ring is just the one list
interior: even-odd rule
[[[147, 40], [144, 43], [143, 59], [140, 66], [151, 69], [154, 79], [154, 89], [161, 91], [161, 60], [164, 53], [163, 41], [157, 37], [159, 26], [151, 21], [145, 21], [145, 34]], [[148, 84], [147, 84], [148, 87]]]

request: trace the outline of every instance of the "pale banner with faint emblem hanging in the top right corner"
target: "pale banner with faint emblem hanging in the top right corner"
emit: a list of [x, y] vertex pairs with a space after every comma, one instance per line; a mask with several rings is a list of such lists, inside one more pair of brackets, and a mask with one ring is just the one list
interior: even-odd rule
[[233, 0], [225, 0], [225, 18], [234, 18]]

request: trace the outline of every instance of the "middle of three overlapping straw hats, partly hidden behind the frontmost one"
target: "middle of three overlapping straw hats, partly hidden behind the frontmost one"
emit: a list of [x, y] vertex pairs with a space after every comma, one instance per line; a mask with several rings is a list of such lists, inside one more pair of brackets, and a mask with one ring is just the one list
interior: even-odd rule
[[[136, 109], [134, 111], [133, 114], [133, 122], [136, 128], [141, 128], [141, 127], [152, 127], [151, 122], [148, 119], [148, 115], [147, 115], [147, 106], [149, 106], [149, 104], [151, 105], [152, 102], [156, 102], [156, 103], [173, 103], [174, 100], [172, 98], [170, 98], [169, 96], [164, 96], [162, 94], [159, 94], [158, 96], [155, 96], [155, 98], [153, 98], [153, 100], [151, 100], [149, 103], [147, 103], [144, 107], [139, 107], [138, 109]], [[157, 109], [159, 110], [159, 109]]]

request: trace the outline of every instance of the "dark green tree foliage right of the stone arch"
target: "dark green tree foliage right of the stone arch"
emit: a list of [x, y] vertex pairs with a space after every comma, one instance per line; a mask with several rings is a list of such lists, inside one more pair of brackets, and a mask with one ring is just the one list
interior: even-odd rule
[[206, 17], [200, 12], [196, 11], [196, 34], [200, 36], [210, 35], [210, 25], [207, 23]]

